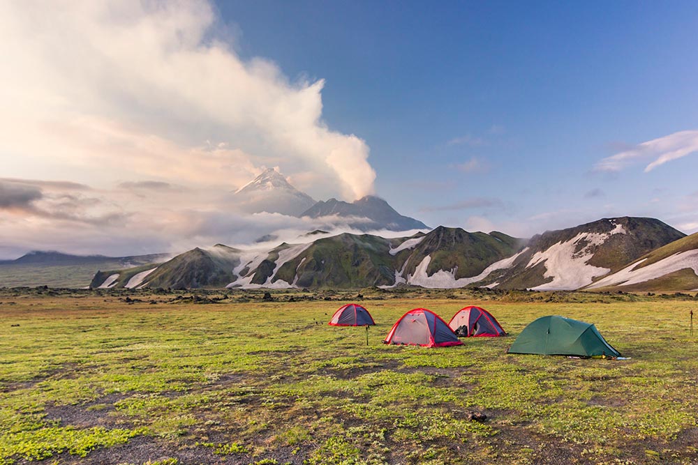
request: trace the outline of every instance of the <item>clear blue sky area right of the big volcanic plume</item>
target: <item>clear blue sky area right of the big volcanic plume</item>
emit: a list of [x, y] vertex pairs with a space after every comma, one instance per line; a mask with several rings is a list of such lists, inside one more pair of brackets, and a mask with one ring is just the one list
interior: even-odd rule
[[[678, 208], [698, 190], [698, 156], [649, 173], [593, 171], [626, 147], [698, 128], [695, 2], [241, 1], [218, 10], [242, 56], [272, 59], [291, 79], [326, 80], [323, 118], [366, 140], [378, 195], [399, 211], [430, 224], [519, 223], [519, 234], [603, 215], [698, 229], [698, 208]], [[472, 199], [487, 206], [427, 211]]]

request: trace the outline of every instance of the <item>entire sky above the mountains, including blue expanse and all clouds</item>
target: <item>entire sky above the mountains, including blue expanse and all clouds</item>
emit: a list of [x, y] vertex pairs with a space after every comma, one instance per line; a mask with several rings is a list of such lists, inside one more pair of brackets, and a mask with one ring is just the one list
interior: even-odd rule
[[0, 3], [0, 259], [245, 243], [268, 167], [528, 237], [698, 231], [698, 3]]

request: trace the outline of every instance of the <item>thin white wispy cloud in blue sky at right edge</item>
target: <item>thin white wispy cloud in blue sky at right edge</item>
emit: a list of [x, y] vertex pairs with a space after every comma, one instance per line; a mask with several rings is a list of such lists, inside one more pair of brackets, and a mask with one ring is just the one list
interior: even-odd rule
[[696, 152], [698, 130], [674, 132], [604, 158], [595, 165], [595, 171], [621, 171], [632, 162], [653, 159], [644, 169], [647, 173], [664, 163]]

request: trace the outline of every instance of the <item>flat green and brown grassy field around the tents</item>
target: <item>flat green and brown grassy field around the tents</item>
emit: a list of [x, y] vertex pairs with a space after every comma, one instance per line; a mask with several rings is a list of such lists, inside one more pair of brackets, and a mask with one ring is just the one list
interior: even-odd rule
[[[367, 298], [367, 346], [327, 326], [339, 300], [56, 294], [0, 292], [2, 465], [698, 463], [695, 299]], [[381, 343], [407, 310], [469, 304], [511, 336]], [[547, 314], [630, 360], [507, 355]]]

